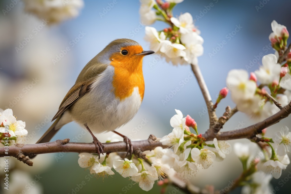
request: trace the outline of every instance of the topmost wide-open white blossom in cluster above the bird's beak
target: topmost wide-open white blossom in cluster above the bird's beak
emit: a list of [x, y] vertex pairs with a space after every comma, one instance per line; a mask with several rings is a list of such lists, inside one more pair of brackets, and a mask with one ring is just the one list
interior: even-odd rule
[[193, 17], [188, 12], [181, 14], [178, 19], [171, 17], [171, 22], [180, 29], [182, 34], [190, 33], [194, 29]]

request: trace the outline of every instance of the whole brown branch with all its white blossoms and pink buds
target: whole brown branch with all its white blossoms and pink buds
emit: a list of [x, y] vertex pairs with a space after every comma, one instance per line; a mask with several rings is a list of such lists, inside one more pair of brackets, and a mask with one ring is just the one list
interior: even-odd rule
[[[227, 87], [220, 90], [213, 103], [198, 66], [204, 41], [200, 31], [194, 25], [190, 13], [173, 17], [173, 8], [182, 1], [141, 0], [141, 20], [147, 25], [157, 20], [169, 25], [160, 31], [146, 26], [145, 40], [168, 63], [191, 65], [207, 105], [210, 125], [205, 134], [199, 132], [203, 129], [197, 126], [190, 115], [184, 117], [181, 111], [175, 109], [176, 114], [170, 119], [173, 128], [171, 133], [160, 139], [151, 135], [147, 140], [132, 141], [134, 155], [131, 158], [118, 153], [126, 152], [124, 142], [104, 143], [106, 154], [99, 156], [92, 154], [97, 151], [93, 143], [70, 143], [68, 139], [35, 145], [22, 144], [28, 133], [24, 129], [25, 122], [17, 121], [12, 110], [6, 109], [0, 111], [0, 142], [3, 144], [0, 147], [0, 157], [14, 156], [32, 165], [26, 156], [77, 152], [80, 153], [79, 166], [88, 169], [94, 176], [104, 178], [117, 172], [122, 177], [130, 177], [145, 191], [149, 191], [155, 181], [159, 180], [162, 193], [169, 183], [179, 185], [177, 180], [180, 180], [183, 183], [180, 187], [184, 192], [205, 193], [205, 189], [210, 192], [214, 188], [197, 188], [191, 184], [190, 179], [198, 171], [211, 168], [230, 154], [232, 147], [225, 140], [248, 138], [252, 143], [234, 145], [235, 154], [242, 162], [243, 172], [230, 190], [243, 186], [245, 193], [266, 193], [272, 177], [278, 179], [282, 170], [290, 164], [287, 155], [291, 150], [289, 128], [284, 126], [274, 136], [265, 136], [267, 127], [291, 113], [291, 44], [287, 47], [287, 28], [275, 20], [271, 23], [273, 32], [269, 35], [269, 40], [275, 53], [263, 56], [262, 66], [250, 75], [245, 70], [230, 70], [226, 78]], [[34, 13], [33, 8], [26, 9]], [[40, 13], [35, 14], [42, 17]], [[215, 108], [229, 91], [236, 107], [231, 109], [227, 106], [225, 113], [218, 118]], [[238, 111], [258, 122], [243, 129], [220, 132], [223, 125]], [[257, 150], [255, 155], [250, 152], [251, 149]]]

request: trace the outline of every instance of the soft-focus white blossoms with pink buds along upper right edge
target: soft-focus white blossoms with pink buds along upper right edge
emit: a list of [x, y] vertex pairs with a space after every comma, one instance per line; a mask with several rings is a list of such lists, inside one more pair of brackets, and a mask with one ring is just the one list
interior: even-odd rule
[[285, 40], [289, 33], [285, 26], [275, 20], [271, 26], [273, 32], [270, 34], [270, 41], [276, 53], [263, 56], [262, 66], [250, 75], [245, 70], [231, 70], [226, 79], [237, 109], [258, 120], [280, 110], [266, 95], [273, 97], [282, 106], [291, 100], [291, 52], [286, 51], [288, 55], [285, 61], [278, 63], [285, 51]]

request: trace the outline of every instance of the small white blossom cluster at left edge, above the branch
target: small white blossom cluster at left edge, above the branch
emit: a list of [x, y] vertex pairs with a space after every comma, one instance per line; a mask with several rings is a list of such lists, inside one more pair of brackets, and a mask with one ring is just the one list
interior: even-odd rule
[[[21, 143], [24, 136], [27, 135], [25, 122], [16, 120], [10, 108], [6, 110], [0, 109], [0, 142], [1, 145], [13, 145]], [[7, 137], [7, 138], [6, 138]], [[6, 141], [5, 141], [6, 140]], [[7, 141], [8, 140], [8, 141]], [[8, 144], [7, 144], [8, 143]], [[1, 147], [1, 146], [0, 146]]]

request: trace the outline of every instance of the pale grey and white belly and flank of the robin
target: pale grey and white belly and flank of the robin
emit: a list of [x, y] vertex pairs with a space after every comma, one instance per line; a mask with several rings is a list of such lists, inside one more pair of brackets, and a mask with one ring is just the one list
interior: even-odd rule
[[113, 69], [107, 68], [95, 88], [82, 96], [70, 107], [73, 120], [87, 125], [93, 134], [113, 131], [129, 122], [141, 106], [139, 88], [134, 88], [131, 96], [116, 99], [112, 86]]

